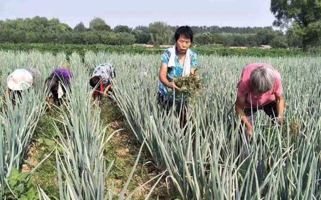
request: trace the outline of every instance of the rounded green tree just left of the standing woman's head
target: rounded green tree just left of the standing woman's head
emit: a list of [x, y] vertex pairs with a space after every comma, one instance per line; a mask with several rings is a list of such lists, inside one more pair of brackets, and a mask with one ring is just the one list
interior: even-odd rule
[[162, 21], [156, 21], [150, 23], [148, 26], [150, 33], [150, 40], [154, 45], [161, 44], [173, 44], [174, 32], [170, 29], [170, 26]]

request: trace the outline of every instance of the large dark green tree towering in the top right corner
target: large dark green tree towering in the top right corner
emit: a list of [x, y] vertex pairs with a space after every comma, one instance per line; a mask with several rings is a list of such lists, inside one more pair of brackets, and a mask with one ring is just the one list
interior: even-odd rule
[[321, 32], [321, 0], [271, 0], [271, 12], [276, 17], [273, 25], [291, 24], [300, 37], [303, 49], [316, 42]]

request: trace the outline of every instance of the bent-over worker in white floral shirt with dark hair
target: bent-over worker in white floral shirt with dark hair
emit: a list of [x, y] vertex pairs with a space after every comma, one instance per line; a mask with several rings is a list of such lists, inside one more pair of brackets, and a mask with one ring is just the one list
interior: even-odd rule
[[95, 104], [98, 104], [101, 95], [106, 96], [109, 91], [112, 91], [112, 79], [115, 76], [115, 68], [112, 64], [104, 63], [96, 66], [89, 80], [90, 86], [94, 89]]

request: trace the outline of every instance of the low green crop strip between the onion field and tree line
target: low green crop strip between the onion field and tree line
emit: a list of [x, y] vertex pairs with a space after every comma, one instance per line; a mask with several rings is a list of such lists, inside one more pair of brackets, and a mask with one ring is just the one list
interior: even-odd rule
[[[118, 53], [146, 53], [146, 54], [161, 54], [164, 48], [147, 48], [137, 45], [84, 45], [84, 44], [54, 44], [54, 43], [0, 43], [0, 50], [23, 50], [29, 51], [37, 49], [41, 52], [50, 51], [54, 54], [58, 52], [65, 52], [67, 56], [72, 52], [78, 52], [82, 57], [88, 50], [98, 52], [118, 52]], [[298, 48], [284, 49], [284, 48], [224, 48], [213, 46], [197, 46], [193, 48], [198, 54], [216, 54], [222, 56], [230, 55], [244, 55], [244, 56], [302, 56], [320, 54], [319, 50], [313, 52], [303, 52]]]

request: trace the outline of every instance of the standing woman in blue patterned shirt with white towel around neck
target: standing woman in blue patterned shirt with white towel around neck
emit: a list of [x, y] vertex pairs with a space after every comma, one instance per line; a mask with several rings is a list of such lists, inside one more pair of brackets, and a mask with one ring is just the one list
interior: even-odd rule
[[162, 103], [180, 103], [181, 99], [175, 99], [175, 92], [180, 91], [180, 88], [174, 78], [196, 73], [199, 62], [197, 54], [190, 49], [192, 42], [191, 27], [181, 26], [175, 32], [175, 45], [166, 49], [162, 56], [158, 83], [158, 97]]

